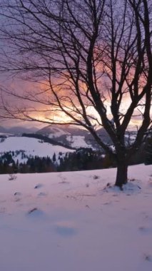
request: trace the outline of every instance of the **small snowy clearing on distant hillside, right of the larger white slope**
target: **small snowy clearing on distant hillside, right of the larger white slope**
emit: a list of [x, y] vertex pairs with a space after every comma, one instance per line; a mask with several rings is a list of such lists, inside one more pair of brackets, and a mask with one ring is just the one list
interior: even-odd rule
[[85, 136], [66, 136], [72, 148], [92, 148], [85, 141]]

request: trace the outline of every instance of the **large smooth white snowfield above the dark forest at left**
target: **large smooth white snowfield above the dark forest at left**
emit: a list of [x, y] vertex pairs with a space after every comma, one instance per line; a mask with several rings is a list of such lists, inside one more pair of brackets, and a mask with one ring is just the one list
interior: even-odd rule
[[[27, 138], [27, 137], [9, 137], [6, 138], [3, 142], [0, 143], [0, 153], [4, 153], [7, 151], [16, 151], [16, 150], [25, 150], [25, 154], [28, 156], [39, 156], [39, 157], [47, 157], [52, 158], [54, 153], [69, 153], [74, 152], [74, 150], [70, 150], [68, 148], [64, 148], [59, 145], [52, 145], [51, 143], [41, 143], [41, 140], [36, 138]], [[16, 156], [15, 160], [19, 160], [19, 162], [23, 162], [21, 159], [21, 153]], [[24, 159], [26, 160], [26, 159]]]

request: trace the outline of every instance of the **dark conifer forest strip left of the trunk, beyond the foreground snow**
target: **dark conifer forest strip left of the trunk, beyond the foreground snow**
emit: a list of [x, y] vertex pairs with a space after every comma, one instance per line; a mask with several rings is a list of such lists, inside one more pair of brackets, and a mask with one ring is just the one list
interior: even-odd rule
[[[18, 157], [20, 159], [18, 159]], [[44, 173], [71, 170], [90, 170], [104, 168], [104, 157], [91, 148], [81, 148], [74, 153], [53, 157], [28, 157], [24, 150], [9, 151], [1, 154], [0, 173]]]

